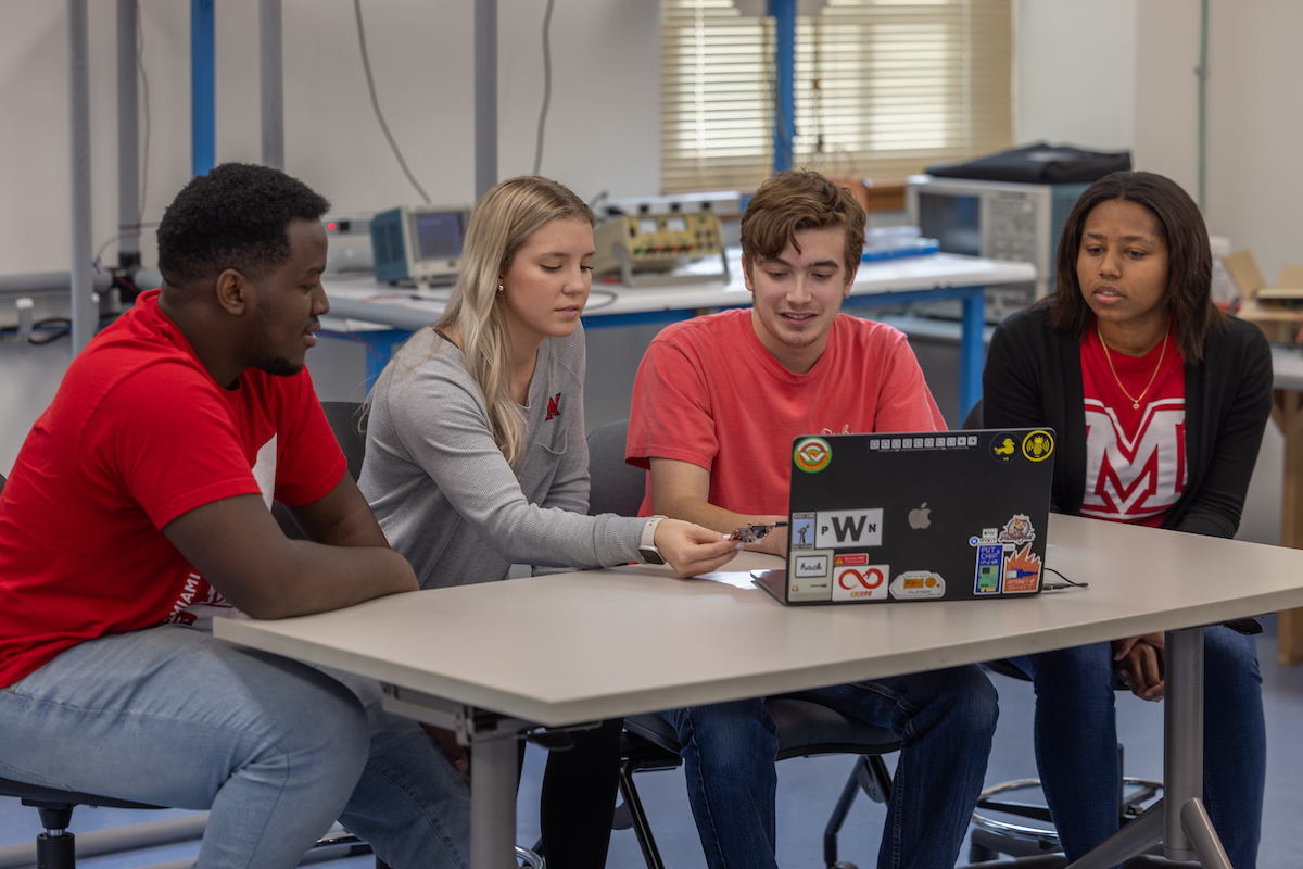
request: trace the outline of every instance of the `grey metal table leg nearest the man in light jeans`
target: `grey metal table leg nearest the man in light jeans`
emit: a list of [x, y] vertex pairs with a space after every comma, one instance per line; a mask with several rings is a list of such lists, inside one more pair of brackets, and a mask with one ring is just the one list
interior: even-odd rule
[[470, 868], [516, 866], [517, 735], [494, 735], [472, 743]]

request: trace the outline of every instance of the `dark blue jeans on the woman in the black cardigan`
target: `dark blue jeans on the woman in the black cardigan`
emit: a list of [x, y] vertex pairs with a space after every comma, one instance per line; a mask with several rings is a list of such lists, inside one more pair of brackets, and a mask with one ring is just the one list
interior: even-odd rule
[[[1108, 642], [1012, 661], [1036, 687], [1036, 765], [1068, 860], [1118, 831], [1118, 731]], [[1204, 804], [1235, 869], [1263, 826], [1267, 724], [1252, 637], [1204, 628]]]

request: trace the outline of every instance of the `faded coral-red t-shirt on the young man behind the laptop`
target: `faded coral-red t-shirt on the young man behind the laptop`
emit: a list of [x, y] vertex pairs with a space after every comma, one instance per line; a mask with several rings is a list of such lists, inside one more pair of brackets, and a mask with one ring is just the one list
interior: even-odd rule
[[[945, 427], [903, 332], [839, 314], [814, 367], [792, 374], [756, 337], [745, 307], [675, 323], [652, 341], [633, 383], [625, 459], [691, 461], [710, 472], [715, 507], [778, 515], [792, 438]], [[649, 474], [641, 515], [650, 512]]]

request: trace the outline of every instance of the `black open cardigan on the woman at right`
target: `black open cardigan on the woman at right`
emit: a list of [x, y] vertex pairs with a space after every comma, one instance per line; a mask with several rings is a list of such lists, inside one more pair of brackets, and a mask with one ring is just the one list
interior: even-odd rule
[[[1272, 350], [1252, 323], [1222, 318], [1204, 361], [1186, 362], [1188, 482], [1161, 528], [1234, 537], [1272, 413]], [[1036, 305], [995, 330], [982, 373], [982, 426], [1050, 426], [1057, 433], [1050, 508], [1080, 515], [1085, 498], [1081, 343], [1050, 327]]]

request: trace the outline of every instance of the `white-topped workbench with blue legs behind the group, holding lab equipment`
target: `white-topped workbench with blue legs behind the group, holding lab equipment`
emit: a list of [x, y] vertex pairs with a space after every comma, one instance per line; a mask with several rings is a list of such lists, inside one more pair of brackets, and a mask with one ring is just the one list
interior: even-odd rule
[[[584, 309], [586, 328], [603, 326], [629, 326], [649, 322], [687, 319], [697, 313], [719, 307], [737, 307], [751, 304], [741, 272], [741, 250], [732, 248], [730, 280], [672, 287], [637, 287], [597, 281]], [[711, 266], [710, 262], [701, 263]], [[714, 262], [718, 270], [718, 261]], [[981, 259], [958, 254], [932, 254], [906, 257], [882, 262], [861, 263], [851, 287], [851, 298], [844, 309], [890, 307], [913, 302], [963, 300], [963, 328], [959, 340], [959, 418], [981, 397], [982, 310], [984, 291], [995, 284], [1015, 284], [1036, 280], [1036, 267], [1031, 263]], [[331, 317], [356, 321], [347, 331], [366, 328], [364, 323], [378, 323], [397, 332], [367, 334], [365, 337], [378, 354], [367, 356], [367, 382], [374, 382], [388, 357], [395, 340], [405, 340], [407, 332], [426, 326], [443, 314], [450, 288], [434, 289], [425, 298], [414, 298], [412, 289], [378, 284], [374, 275], [347, 278], [341, 275], [323, 279], [331, 302]]]

